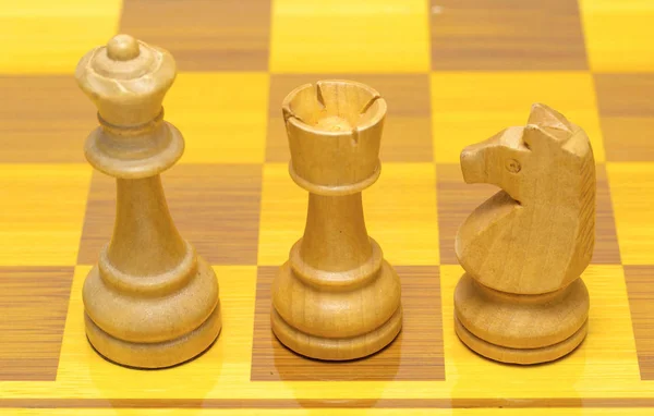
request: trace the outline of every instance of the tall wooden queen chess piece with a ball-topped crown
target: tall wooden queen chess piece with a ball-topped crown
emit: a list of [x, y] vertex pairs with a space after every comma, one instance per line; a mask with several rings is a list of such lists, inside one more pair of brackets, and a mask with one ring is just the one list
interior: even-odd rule
[[113, 235], [84, 282], [86, 334], [125, 366], [183, 363], [216, 340], [221, 318], [216, 274], [180, 236], [159, 176], [184, 150], [161, 107], [173, 58], [118, 35], [85, 54], [75, 77], [98, 108], [86, 158], [118, 188]]

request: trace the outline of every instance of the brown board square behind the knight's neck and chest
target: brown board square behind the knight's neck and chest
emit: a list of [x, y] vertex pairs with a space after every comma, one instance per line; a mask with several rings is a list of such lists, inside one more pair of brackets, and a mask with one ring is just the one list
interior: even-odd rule
[[[437, 164], [438, 233], [440, 236], [440, 264], [459, 264], [455, 253], [455, 238], [459, 227], [482, 203], [499, 188], [489, 184], [468, 185], [458, 164]], [[619, 265], [620, 249], [610, 201], [610, 192], [604, 164], [596, 167], [595, 250], [592, 264]]]

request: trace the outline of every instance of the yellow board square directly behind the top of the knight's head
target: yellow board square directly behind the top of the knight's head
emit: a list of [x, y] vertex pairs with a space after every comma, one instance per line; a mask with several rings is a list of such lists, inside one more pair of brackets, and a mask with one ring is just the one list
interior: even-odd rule
[[526, 124], [535, 102], [581, 126], [595, 161], [605, 159], [595, 88], [588, 72], [435, 72], [431, 81], [434, 160], [439, 163], [459, 163], [465, 146]]

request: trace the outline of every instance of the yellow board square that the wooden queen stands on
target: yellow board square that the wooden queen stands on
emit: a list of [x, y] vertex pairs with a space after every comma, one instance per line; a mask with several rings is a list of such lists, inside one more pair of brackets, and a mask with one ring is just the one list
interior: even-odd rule
[[[75, 268], [58, 382], [74, 383], [83, 397], [170, 399], [189, 394], [192, 394], [191, 397], [204, 397], [217, 386], [229, 384], [238, 389], [249, 381], [256, 267], [214, 267], [220, 287], [222, 316], [222, 329], [217, 341], [195, 359], [171, 370], [159, 371], [135, 371], [116, 365], [90, 346], [85, 335], [82, 299], [82, 287], [89, 271], [88, 266]], [[185, 381], [180, 383], [180, 380]]]

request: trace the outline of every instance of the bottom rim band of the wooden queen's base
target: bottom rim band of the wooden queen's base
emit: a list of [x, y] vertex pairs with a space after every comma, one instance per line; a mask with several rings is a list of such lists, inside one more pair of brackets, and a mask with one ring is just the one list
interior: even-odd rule
[[222, 328], [220, 304], [198, 328], [166, 342], [119, 340], [100, 329], [86, 314], [84, 320], [86, 337], [99, 354], [110, 362], [135, 368], [166, 368], [187, 362], [207, 350]]

